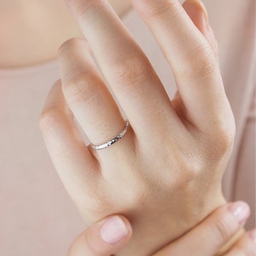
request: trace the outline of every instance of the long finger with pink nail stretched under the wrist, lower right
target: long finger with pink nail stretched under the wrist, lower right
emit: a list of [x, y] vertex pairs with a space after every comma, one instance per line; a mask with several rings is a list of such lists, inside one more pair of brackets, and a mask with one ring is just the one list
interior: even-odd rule
[[[219, 208], [187, 235], [154, 256], [212, 256], [245, 224], [250, 209], [244, 202]], [[199, 249], [200, 248], [200, 249]]]

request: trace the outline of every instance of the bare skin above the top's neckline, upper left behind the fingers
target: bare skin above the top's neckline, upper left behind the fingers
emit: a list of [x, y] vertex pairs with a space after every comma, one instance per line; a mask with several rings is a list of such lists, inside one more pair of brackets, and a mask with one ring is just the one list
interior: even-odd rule
[[[131, 8], [127, 0], [109, 2], [119, 16]], [[62, 0], [0, 0], [0, 33], [0, 67], [9, 68], [55, 59], [63, 42], [82, 37]]]

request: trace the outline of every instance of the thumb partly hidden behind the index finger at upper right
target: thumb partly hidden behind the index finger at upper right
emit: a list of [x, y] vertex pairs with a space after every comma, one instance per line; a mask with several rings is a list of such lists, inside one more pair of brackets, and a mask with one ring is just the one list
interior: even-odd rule
[[207, 9], [200, 0], [187, 0], [183, 3], [183, 9], [194, 22], [195, 26], [207, 38], [208, 43], [212, 47], [214, 55], [218, 56], [218, 43], [215, 38], [212, 27], [209, 24]]

